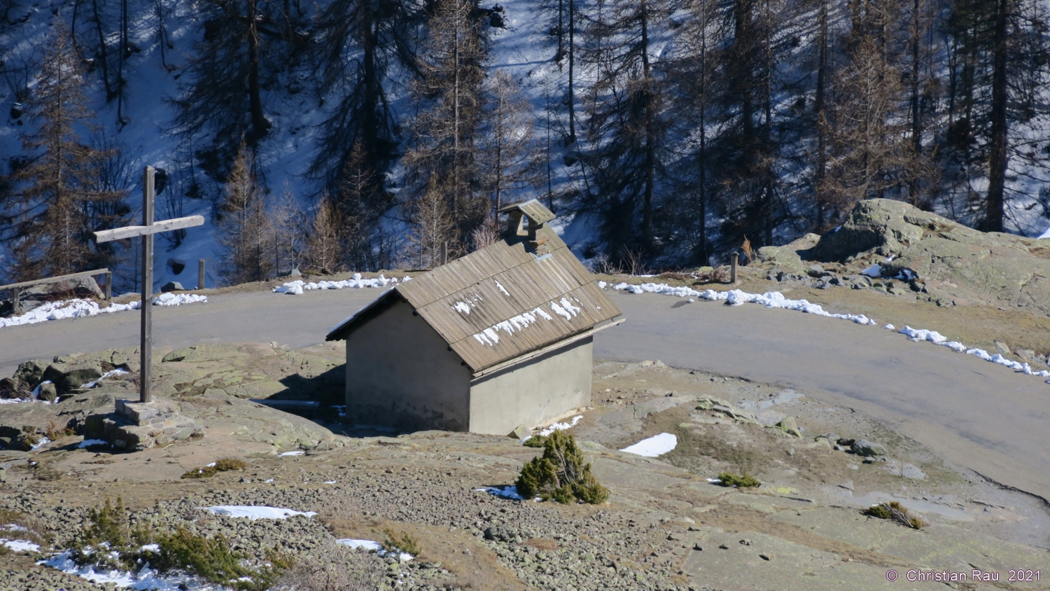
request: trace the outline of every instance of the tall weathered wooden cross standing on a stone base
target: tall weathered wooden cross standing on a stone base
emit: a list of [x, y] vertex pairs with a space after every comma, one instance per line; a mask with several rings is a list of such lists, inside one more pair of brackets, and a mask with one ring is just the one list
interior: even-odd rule
[[142, 236], [142, 342], [139, 347], [140, 365], [140, 402], [152, 402], [153, 396], [150, 393], [150, 382], [152, 380], [152, 335], [151, 312], [153, 299], [153, 234], [178, 230], [180, 228], [192, 228], [204, 224], [204, 216], [190, 215], [189, 217], [175, 217], [174, 219], [164, 219], [153, 223], [153, 174], [156, 171], [152, 166], [147, 166], [142, 173], [142, 226], [125, 226], [112, 230], [100, 230], [93, 232], [97, 242], [108, 242], [123, 238], [133, 238]]

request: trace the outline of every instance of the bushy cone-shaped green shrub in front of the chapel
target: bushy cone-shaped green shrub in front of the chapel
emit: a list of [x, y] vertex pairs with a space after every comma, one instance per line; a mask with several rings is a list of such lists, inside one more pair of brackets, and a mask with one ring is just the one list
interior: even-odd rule
[[539, 495], [544, 501], [596, 505], [609, 498], [609, 491], [591, 474], [590, 464], [584, 463], [575, 438], [562, 430], [546, 438], [543, 456], [522, 466], [516, 484], [526, 499]]

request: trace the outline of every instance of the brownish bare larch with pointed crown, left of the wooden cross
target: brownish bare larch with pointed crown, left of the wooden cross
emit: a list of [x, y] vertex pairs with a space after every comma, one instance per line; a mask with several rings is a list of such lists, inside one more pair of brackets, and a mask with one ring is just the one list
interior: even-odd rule
[[104, 183], [110, 151], [81, 139], [92, 129], [84, 96], [85, 72], [61, 23], [51, 27], [27, 113], [39, 122], [22, 138], [24, 165], [13, 174], [2, 238], [14, 255], [12, 279], [35, 279], [104, 266], [112, 251], [99, 250], [91, 232], [112, 228], [127, 211], [124, 191]]

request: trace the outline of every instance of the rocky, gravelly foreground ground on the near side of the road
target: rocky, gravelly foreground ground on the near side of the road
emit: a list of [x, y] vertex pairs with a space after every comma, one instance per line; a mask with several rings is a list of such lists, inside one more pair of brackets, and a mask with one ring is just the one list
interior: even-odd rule
[[[82, 436], [52, 428], [55, 440], [34, 451], [0, 451], [5, 467], [0, 521], [25, 526], [30, 532], [21, 535], [35, 536], [45, 550], [64, 550], [78, 545], [91, 508], [120, 497], [132, 522], [149, 524], [150, 531], [183, 526], [206, 536], [222, 534], [233, 549], [255, 557], [277, 549], [306, 564], [329, 555], [335, 539], [382, 542], [387, 530], [418, 541], [419, 555], [406, 562], [364, 552], [343, 555], [360, 573], [360, 588], [929, 585], [908, 583], [909, 569], [1000, 573], [995, 585], [957, 586], [962, 589], [1050, 588], [1050, 583], [1007, 581], [1010, 569], [1050, 571], [1050, 515], [1042, 501], [947, 465], [864, 416], [805, 393], [658, 361], [598, 362], [593, 406], [582, 413], [573, 432], [610, 500], [565, 506], [477, 490], [512, 484], [522, 464], [538, 453], [516, 440], [355, 431], [338, 422], [337, 405], [310, 409], [308, 420], [248, 400], [294, 393], [259, 394], [281, 373], [323, 383], [310, 380], [341, 358], [338, 347], [289, 352], [244, 344], [222, 351], [172, 352], [156, 364], [160, 382], [170, 384], [162, 392], [203, 426], [203, 439], [110, 452], [78, 449]], [[112, 359], [113, 352], [108, 355]], [[21, 421], [29, 407], [36, 420], [44, 420], [46, 408], [55, 421], [64, 405], [89, 406], [109, 396], [106, 391], [127, 387], [106, 381], [54, 405], [2, 405], [0, 423]], [[323, 398], [320, 391], [315, 394]], [[93, 402], [77, 402], [81, 399]], [[243, 424], [250, 427], [239, 428]], [[617, 451], [659, 432], [678, 440], [659, 459]], [[886, 453], [864, 456], [872, 449], [855, 449], [848, 440], [867, 440]], [[304, 453], [277, 455], [290, 449]], [[180, 479], [222, 458], [244, 460], [247, 467], [210, 479]], [[761, 486], [726, 488], [708, 481], [726, 470], [749, 472]], [[890, 500], [929, 525], [914, 530], [861, 513]], [[198, 509], [213, 505], [318, 514], [248, 521]], [[36, 566], [39, 557], [0, 556], [0, 589], [92, 588]], [[886, 579], [890, 569], [900, 581]]]

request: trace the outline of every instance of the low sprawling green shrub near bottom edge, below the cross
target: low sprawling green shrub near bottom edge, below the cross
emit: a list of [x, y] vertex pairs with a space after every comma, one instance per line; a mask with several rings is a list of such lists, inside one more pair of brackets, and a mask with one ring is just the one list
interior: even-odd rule
[[[245, 556], [230, 550], [229, 541], [218, 535], [207, 539], [185, 528], [158, 539], [161, 556], [158, 570], [181, 569], [210, 583], [229, 586], [238, 591], [262, 591], [287, 570], [292, 561], [285, 554], [268, 552], [269, 565], [246, 566]], [[245, 579], [242, 581], [242, 577]]]

